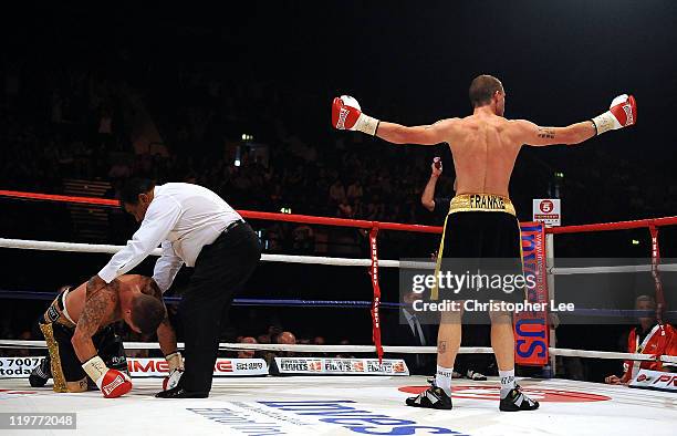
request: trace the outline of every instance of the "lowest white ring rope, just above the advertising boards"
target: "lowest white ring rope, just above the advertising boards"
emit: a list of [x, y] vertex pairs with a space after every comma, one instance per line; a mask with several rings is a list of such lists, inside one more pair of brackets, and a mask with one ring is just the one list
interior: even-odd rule
[[[179, 349], [184, 347], [184, 343], [179, 342]], [[125, 349], [128, 350], [159, 350], [159, 344], [155, 342], [125, 342]], [[0, 340], [0, 349], [21, 349], [28, 347], [45, 349], [45, 341], [20, 341], [20, 340]], [[296, 353], [375, 353], [374, 345], [305, 345], [305, 344], [247, 344], [247, 343], [220, 343], [219, 350], [252, 350], [252, 351], [293, 351]], [[436, 346], [402, 346], [402, 345], [384, 345], [383, 351], [386, 353], [403, 353], [403, 354], [435, 354]], [[573, 349], [549, 349], [550, 354], [561, 355], [566, 357], [591, 357], [591, 359], [621, 359], [628, 361], [647, 361], [647, 362], [667, 362], [677, 364], [677, 356], [662, 355], [654, 356], [650, 354], [638, 353], [616, 353], [608, 351], [590, 351], [590, 350], [573, 350]], [[461, 346], [458, 350], [459, 354], [491, 354], [493, 350], [490, 346]]]

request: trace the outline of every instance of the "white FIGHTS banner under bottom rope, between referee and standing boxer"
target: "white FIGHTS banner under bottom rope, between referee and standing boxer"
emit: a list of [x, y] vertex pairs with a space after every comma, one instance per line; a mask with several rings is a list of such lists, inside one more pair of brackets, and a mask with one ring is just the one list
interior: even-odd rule
[[277, 374], [409, 375], [402, 359], [275, 357]]

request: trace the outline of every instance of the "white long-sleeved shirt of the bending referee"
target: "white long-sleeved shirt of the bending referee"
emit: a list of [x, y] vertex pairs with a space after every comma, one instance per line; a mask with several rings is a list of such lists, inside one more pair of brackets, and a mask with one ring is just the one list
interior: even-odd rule
[[184, 263], [194, 267], [204, 246], [213, 242], [233, 221], [242, 219], [211, 190], [191, 184], [156, 186], [140, 227], [127, 246], [100, 272], [106, 283], [139, 264], [162, 245], [153, 279], [165, 292]]

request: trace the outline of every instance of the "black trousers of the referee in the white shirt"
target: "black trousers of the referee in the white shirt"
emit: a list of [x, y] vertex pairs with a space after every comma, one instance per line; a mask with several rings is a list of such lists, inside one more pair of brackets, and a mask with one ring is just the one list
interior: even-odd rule
[[209, 392], [219, 347], [221, 314], [261, 259], [259, 238], [240, 224], [205, 246], [179, 303], [185, 332], [186, 368], [180, 386]]

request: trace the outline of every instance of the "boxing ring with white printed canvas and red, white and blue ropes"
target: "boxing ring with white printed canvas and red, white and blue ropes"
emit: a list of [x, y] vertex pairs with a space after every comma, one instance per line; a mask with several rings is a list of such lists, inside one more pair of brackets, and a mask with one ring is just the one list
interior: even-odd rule
[[[86, 197], [27, 195], [0, 191], [0, 196], [117, 206], [114, 200]], [[240, 211], [249, 220], [283, 220], [320, 226], [342, 226], [369, 232], [371, 259], [331, 258], [264, 253], [265, 262], [293, 262], [332, 267], [368, 268], [374, 295], [371, 301], [262, 300], [238, 299], [241, 305], [351, 307], [369, 310], [374, 319], [373, 345], [284, 345], [222, 343], [221, 350], [292, 351], [296, 353], [354, 353], [372, 360], [385, 353], [436, 353], [435, 346], [388, 346], [381, 344], [378, 311], [397, 307], [381, 301], [378, 268], [399, 268], [399, 260], [383, 260], [377, 253], [379, 231], [437, 233], [439, 227], [400, 225], [308, 217], [287, 214]], [[546, 245], [553, 246], [558, 233], [648, 229], [652, 238], [650, 264], [627, 267], [553, 268], [548, 266], [548, 280], [576, 273], [614, 273], [677, 271], [676, 264], [660, 263], [658, 228], [677, 225], [677, 217], [590, 226], [546, 229]], [[0, 239], [0, 248], [113, 253], [121, 247], [70, 242]], [[550, 251], [552, 253], [552, 251]], [[154, 255], [159, 255], [157, 250]], [[660, 281], [656, 281], [656, 300], [665, 304]], [[25, 294], [31, 292], [25, 292]], [[19, 295], [19, 293], [17, 293]], [[2, 292], [3, 298], [9, 292]], [[48, 299], [50, 295], [23, 298]], [[665, 312], [665, 307], [659, 308]], [[625, 311], [633, 312], [633, 311]], [[635, 311], [636, 312], [636, 311]], [[674, 312], [665, 312], [674, 314]], [[625, 313], [627, 314], [627, 313]], [[677, 363], [676, 356], [653, 356], [604, 351], [556, 347], [550, 344], [552, 364], [556, 356], [612, 359]], [[180, 346], [180, 344], [179, 344]], [[42, 349], [43, 341], [0, 340], [2, 349]], [[156, 343], [125, 343], [127, 350], [157, 349]], [[461, 347], [460, 353], [490, 353], [489, 347]], [[358, 359], [355, 359], [358, 360]], [[427, 386], [418, 375], [287, 375], [215, 377], [209, 398], [160, 399], [153, 395], [160, 390], [157, 377], [134, 378], [131, 393], [106, 399], [96, 391], [55, 394], [51, 383], [32, 388], [25, 378], [0, 378], [0, 413], [75, 413], [76, 429], [2, 429], [2, 434], [244, 434], [244, 435], [334, 435], [334, 434], [455, 434], [455, 435], [629, 435], [649, 432], [653, 435], [675, 434], [677, 394], [674, 392], [629, 388], [624, 385], [579, 382], [562, 378], [518, 377], [523, 391], [541, 403], [540, 409], [523, 413], [498, 411], [498, 380], [486, 382], [457, 380], [452, 384], [454, 409], [431, 411], [404, 405], [407, 396]]]

